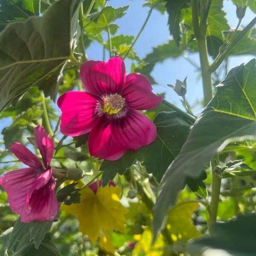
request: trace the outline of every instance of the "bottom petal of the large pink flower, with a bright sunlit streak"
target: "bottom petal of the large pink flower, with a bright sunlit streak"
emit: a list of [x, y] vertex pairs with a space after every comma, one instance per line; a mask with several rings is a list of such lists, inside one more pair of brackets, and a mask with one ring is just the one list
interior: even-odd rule
[[126, 151], [113, 141], [110, 122], [104, 116], [96, 122], [90, 131], [88, 144], [92, 156], [105, 160], [116, 160], [122, 157]]

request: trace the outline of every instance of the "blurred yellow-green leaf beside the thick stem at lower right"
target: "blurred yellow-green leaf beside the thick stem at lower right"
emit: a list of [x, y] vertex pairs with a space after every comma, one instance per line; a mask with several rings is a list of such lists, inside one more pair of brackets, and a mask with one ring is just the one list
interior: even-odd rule
[[198, 209], [198, 203], [182, 203], [170, 209], [166, 222], [166, 228], [170, 232], [172, 240], [189, 240], [201, 236], [201, 233], [193, 224], [191, 215]]

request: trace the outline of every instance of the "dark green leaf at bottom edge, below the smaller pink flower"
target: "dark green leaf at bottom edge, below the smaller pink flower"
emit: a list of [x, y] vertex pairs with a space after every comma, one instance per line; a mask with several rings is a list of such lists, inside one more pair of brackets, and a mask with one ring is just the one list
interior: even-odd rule
[[45, 234], [44, 240], [38, 248], [35, 248], [32, 242], [20, 244], [13, 256], [61, 256], [61, 253], [52, 242], [50, 233]]

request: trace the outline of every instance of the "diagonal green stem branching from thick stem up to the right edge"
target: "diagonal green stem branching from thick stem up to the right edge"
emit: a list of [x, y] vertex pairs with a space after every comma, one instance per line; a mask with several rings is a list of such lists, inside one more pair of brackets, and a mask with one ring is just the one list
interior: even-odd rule
[[219, 54], [215, 60], [212, 62], [209, 67], [210, 72], [214, 72], [224, 61], [224, 59], [229, 55], [232, 49], [236, 46], [236, 44], [247, 34], [247, 32], [256, 24], [256, 17], [233, 39], [233, 41], [227, 46], [225, 51]]

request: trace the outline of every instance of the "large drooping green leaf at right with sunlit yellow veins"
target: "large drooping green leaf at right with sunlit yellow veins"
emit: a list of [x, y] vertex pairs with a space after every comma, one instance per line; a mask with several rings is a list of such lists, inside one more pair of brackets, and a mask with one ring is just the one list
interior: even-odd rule
[[199, 177], [216, 152], [231, 141], [256, 137], [256, 60], [235, 67], [217, 87], [217, 93], [192, 127], [186, 143], [169, 166], [154, 207], [157, 236], [169, 207], [186, 176]]

